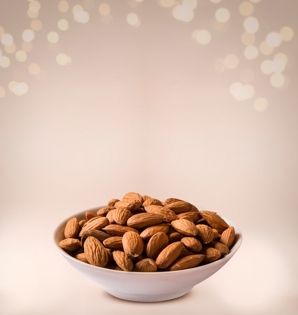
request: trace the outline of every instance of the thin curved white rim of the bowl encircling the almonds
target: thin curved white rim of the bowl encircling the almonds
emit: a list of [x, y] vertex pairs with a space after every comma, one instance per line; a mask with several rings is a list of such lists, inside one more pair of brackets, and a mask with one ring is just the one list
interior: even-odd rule
[[[88, 267], [91, 269], [94, 269], [95, 271], [103, 271], [103, 272], [107, 272], [107, 273], [119, 273], [121, 275], [146, 275], [149, 276], [151, 275], [151, 277], [153, 275], [160, 275], [160, 274], [179, 274], [179, 273], [188, 273], [188, 272], [195, 272], [195, 271], [203, 271], [205, 269], [208, 269], [210, 267], [216, 267], [217, 265], [221, 265], [221, 264], [225, 264], [227, 263], [232, 256], [234, 256], [234, 254], [239, 250], [241, 244], [242, 244], [242, 232], [240, 230], [240, 228], [238, 227], [238, 225], [236, 225], [233, 221], [231, 221], [230, 219], [228, 219], [226, 216], [221, 215], [219, 212], [216, 211], [216, 213], [223, 219], [225, 220], [230, 226], [234, 226], [235, 228], [235, 237], [236, 237], [236, 241], [234, 242], [233, 246], [231, 247], [229, 253], [223, 257], [221, 257], [220, 259], [212, 262], [212, 263], [208, 263], [206, 265], [201, 265], [201, 266], [197, 266], [197, 267], [193, 267], [193, 268], [188, 268], [188, 269], [182, 269], [182, 270], [173, 270], [173, 271], [155, 271], [155, 272], [139, 272], [139, 271], [129, 271], [129, 272], [125, 272], [123, 270], [114, 270], [114, 269], [110, 269], [110, 268], [105, 268], [105, 267], [98, 267], [98, 266], [93, 266], [91, 264], [87, 264], [84, 263], [83, 261], [80, 261], [78, 259], [76, 259], [75, 257], [72, 257], [71, 255], [69, 255], [68, 253], [66, 253], [62, 248], [60, 248], [58, 242], [57, 242], [57, 237], [58, 237], [58, 233], [61, 231], [61, 229], [63, 227], [65, 227], [66, 222], [68, 220], [70, 220], [73, 217], [81, 217], [85, 214], [86, 211], [90, 211], [90, 212], [94, 212], [96, 210], [99, 210], [100, 208], [106, 207], [107, 205], [103, 205], [103, 206], [97, 206], [97, 207], [93, 207], [87, 210], [82, 210], [80, 212], [77, 212], [71, 216], [68, 216], [66, 219], [62, 220], [54, 229], [54, 233], [53, 233], [53, 241], [54, 241], [54, 245], [56, 247], [56, 249], [67, 259], [72, 260], [75, 263], [78, 263], [79, 265], [82, 264], [84, 267]], [[197, 207], [197, 209], [200, 210], [207, 210], [207, 211], [212, 211], [212, 210], [208, 210], [206, 208], [202, 208], [202, 207]], [[213, 211], [215, 212], [215, 211]]]

